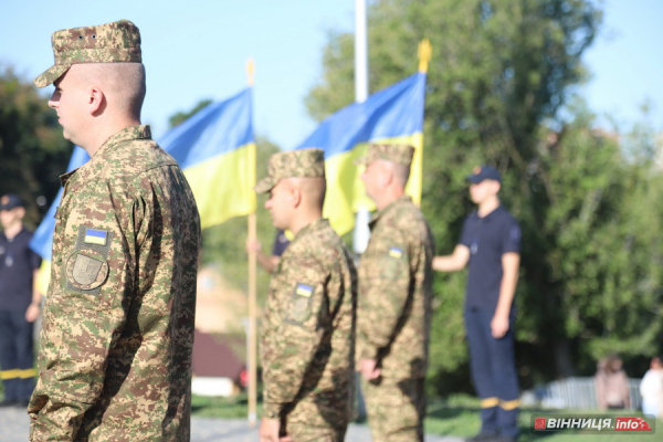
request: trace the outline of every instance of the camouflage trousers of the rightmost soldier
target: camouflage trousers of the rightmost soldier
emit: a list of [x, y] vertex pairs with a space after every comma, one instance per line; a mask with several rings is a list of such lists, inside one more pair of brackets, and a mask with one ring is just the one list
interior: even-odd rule
[[423, 378], [361, 381], [373, 442], [423, 442]]

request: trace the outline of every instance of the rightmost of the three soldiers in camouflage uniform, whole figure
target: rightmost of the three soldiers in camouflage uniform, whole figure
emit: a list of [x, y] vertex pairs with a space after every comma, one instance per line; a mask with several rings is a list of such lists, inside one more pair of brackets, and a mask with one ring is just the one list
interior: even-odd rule
[[359, 263], [361, 389], [375, 442], [423, 441], [433, 238], [404, 194], [414, 149], [370, 145], [361, 176], [378, 212]]

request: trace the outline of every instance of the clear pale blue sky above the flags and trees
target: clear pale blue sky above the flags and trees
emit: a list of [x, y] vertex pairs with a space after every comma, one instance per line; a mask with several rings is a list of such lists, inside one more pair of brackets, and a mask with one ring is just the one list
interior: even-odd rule
[[[0, 64], [32, 80], [53, 63], [52, 32], [128, 19], [140, 29], [147, 70], [143, 122], [157, 140], [172, 114], [246, 87], [253, 59], [255, 133], [288, 149], [316, 127], [304, 97], [322, 74], [329, 32], [354, 31], [354, 8], [355, 0], [4, 0]], [[663, 1], [607, 0], [603, 8], [601, 34], [585, 56], [592, 80], [578, 91], [601, 124], [609, 115], [621, 129], [641, 119], [649, 99], [650, 123], [662, 130]]]

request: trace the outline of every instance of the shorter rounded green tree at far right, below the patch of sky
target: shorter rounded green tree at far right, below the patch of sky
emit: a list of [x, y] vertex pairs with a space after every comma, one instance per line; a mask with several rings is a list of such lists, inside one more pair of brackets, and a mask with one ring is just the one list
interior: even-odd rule
[[619, 136], [591, 126], [580, 110], [540, 149], [552, 233], [547, 284], [556, 291], [544, 312], [557, 313], [540, 322], [566, 337], [569, 370], [592, 373], [598, 358], [617, 351], [630, 372], [643, 372], [661, 350], [663, 173], [651, 128]]

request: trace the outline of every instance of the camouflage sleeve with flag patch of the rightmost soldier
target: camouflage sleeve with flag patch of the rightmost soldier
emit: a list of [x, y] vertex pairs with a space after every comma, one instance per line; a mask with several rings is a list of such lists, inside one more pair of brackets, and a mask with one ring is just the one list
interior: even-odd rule
[[359, 264], [358, 338], [359, 357], [376, 359], [389, 345], [410, 291], [410, 250], [401, 232], [371, 238]]

